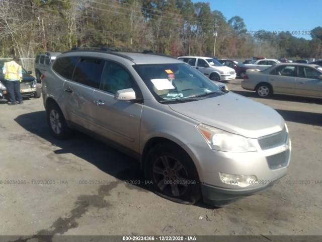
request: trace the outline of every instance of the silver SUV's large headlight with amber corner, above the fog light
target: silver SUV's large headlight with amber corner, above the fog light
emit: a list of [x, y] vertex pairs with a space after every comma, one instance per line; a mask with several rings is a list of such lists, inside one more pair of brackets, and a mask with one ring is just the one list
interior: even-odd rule
[[197, 129], [213, 150], [225, 152], [256, 151], [254, 145], [244, 136], [235, 135], [204, 124], [198, 125]]

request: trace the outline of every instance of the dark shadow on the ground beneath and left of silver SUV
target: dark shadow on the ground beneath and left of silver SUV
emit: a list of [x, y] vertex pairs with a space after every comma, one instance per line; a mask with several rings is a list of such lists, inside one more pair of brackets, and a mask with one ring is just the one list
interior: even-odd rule
[[[152, 191], [152, 186], [146, 182], [137, 160], [82, 133], [76, 133], [67, 140], [54, 139], [49, 133], [45, 111], [22, 114], [15, 118], [15, 121], [27, 131], [60, 148], [54, 149], [52, 155], [73, 154], [92, 163], [103, 172], [119, 179], [119, 181], [124, 181], [128, 189], [136, 189], [141, 192]], [[132, 183], [132, 181], [135, 182]], [[197, 206], [209, 208], [203, 202], [198, 202]]]

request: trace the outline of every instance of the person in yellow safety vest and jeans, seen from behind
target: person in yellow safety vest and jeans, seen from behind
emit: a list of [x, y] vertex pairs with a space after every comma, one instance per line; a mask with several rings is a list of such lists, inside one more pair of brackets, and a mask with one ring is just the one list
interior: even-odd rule
[[11, 62], [6, 62], [3, 67], [3, 74], [5, 75], [5, 85], [9, 93], [8, 105], [23, 104], [20, 93], [20, 82], [22, 81], [22, 67], [18, 64], [19, 57], [14, 56]]

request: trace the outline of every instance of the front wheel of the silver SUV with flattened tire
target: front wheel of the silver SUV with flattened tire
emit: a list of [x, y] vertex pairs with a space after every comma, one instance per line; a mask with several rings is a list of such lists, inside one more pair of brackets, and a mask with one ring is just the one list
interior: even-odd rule
[[173, 144], [160, 143], [149, 150], [145, 176], [156, 194], [171, 201], [194, 204], [201, 197], [199, 176], [190, 156]]

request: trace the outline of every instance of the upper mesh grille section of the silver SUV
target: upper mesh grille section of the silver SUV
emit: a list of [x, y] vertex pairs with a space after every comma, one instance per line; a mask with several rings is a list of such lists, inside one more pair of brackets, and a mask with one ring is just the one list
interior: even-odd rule
[[287, 141], [287, 137], [288, 133], [286, 132], [286, 128], [284, 127], [284, 129], [281, 132], [260, 137], [257, 139], [257, 141], [262, 150], [268, 150], [285, 144]]

